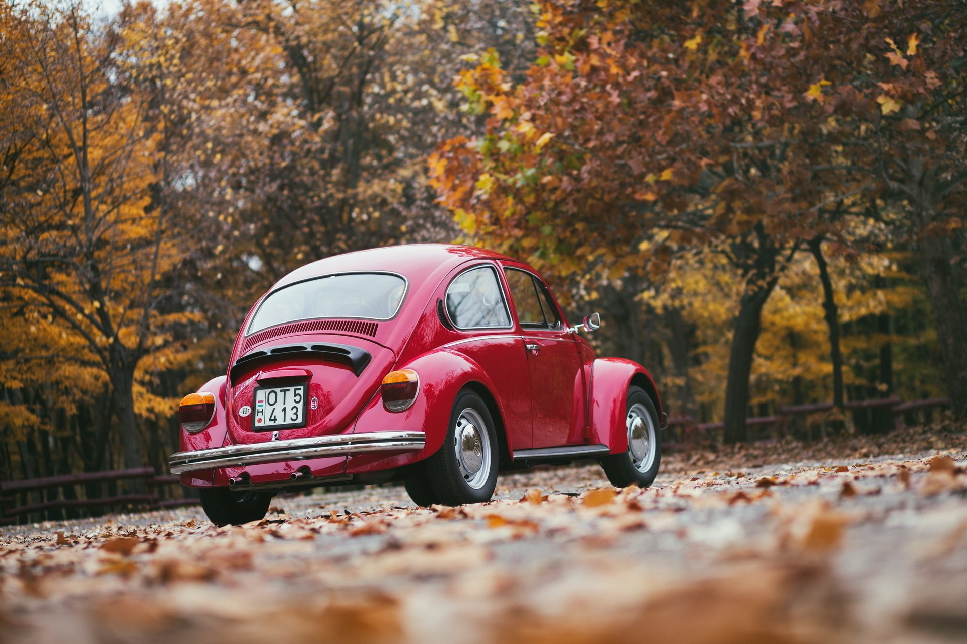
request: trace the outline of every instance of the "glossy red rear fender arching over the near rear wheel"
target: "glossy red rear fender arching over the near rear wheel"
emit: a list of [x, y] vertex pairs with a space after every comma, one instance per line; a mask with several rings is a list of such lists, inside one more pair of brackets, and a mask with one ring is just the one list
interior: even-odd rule
[[[493, 393], [496, 389], [484, 370], [474, 360], [451, 350], [437, 350], [420, 355], [395, 369], [412, 369], [420, 377], [416, 402], [406, 411], [389, 411], [377, 392], [360, 413], [354, 433], [385, 431], [417, 431], [426, 435], [425, 447], [418, 452], [386, 456], [378, 452], [349, 457], [346, 473], [399, 467], [432, 456], [443, 445], [450, 427], [450, 415], [456, 394], [471, 382], [477, 382]], [[500, 400], [493, 396], [498, 413], [504, 417]], [[495, 419], [497, 420], [497, 419]], [[513, 446], [509, 446], [513, 449]]]

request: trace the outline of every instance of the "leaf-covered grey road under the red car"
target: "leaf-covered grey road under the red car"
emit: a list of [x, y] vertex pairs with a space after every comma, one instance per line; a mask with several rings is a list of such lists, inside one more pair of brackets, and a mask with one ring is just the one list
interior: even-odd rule
[[[0, 640], [948, 642], [967, 633], [967, 452], [596, 466], [418, 509], [400, 488], [7, 528]], [[59, 534], [58, 534], [59, 533]]]

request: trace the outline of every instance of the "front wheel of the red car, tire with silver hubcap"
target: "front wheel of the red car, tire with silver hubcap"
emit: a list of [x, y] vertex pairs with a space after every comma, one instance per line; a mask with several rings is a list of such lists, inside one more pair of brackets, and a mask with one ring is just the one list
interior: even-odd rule
[[631, 385], [628, 388], [625, 429], [628, 451], [603, 457], [601, 467], [608, 481], [618, 488], [632, 485], [647, 488], [659, 474], [661, 433], [655, 403], [641, 387]]

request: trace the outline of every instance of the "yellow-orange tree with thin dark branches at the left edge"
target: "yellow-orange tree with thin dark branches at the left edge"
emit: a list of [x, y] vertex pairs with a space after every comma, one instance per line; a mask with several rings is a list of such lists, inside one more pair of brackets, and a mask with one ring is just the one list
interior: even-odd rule
[[[184, 240], [152, 203], [158, 132], [144, 118], [149, 98], [117, 82], [117, 36], [79, 6], [2, 12], [10, 29], [0, 40], [0, 92], [20, 118], [6, 118], [0, 132], [0, 285], [5, 312], [29, 334], [6, 357], [25, 371], [43, 371], [46, 360], [96, 369], [109, 385], [107, 417], [117, 417], [124, 462], [140, 466], [135, 405], [150, 395], [135, 401], [139, 366], [192, 320], [162, 308], [177, 293], [165, 275]], [[95, 466], [109, 428], [93, 437], [102, 450]]]

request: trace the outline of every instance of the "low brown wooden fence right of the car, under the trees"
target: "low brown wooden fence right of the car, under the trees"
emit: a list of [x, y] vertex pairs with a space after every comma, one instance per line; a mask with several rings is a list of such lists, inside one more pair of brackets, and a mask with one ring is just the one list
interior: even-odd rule
[[[868, 401], [849, 401], [844, 406], [847, 412], [852, 413], [847, 413], [843, 422], [850, 427], [853, 423], [853, 413], [860, 410], [885, 409], [892, 419], [891, 429], [899, 430], [924, 412], [950, 405], [949, 398], [928, 398], [908, 403], [900, 401], [895, 396]], [[793, 433], [803, 434], [807, 440], [812, 440], [813, 433], [818, 431], [820, 436], [825, 438], [831, 419], [821, 417], [818, 423], [810, 423], [808, 417], [814, 414], [827, 414], [833, 411], [833, 408], [833, 403], [785, 405], [778, 407], [774, 415], [747, 418], [746, 425], [753, 439], [761, 438], [764, 431], [769, 431], [774, 437], [784, 437]], [[721, 422], [697, 423], [689, 416], [674, 416], [668, 419], [668, 428], [673, 435], [664, 441], [664, 445], [671, 449], [688, 449], [690, 445], [701, 440], [711, 439], [722, 430], [723, 424]]]

